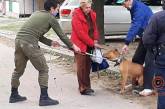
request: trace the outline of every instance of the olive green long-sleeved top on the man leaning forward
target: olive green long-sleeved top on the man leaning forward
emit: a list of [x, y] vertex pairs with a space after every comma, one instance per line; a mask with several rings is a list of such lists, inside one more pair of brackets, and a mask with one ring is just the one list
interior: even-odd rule
[[62, 31], [58, 21], [48, 11], [37, 11], [31, 15], [28, 21], [21, 27], [17, 33], [16, 39], [25, 40], [31, 44], [38, 44], [38, 41], [51, 46], [52, 40], [44, 37], [50, 28], [52, 28], [59, 38], [69, 47], [72, 44], [69, 38]]

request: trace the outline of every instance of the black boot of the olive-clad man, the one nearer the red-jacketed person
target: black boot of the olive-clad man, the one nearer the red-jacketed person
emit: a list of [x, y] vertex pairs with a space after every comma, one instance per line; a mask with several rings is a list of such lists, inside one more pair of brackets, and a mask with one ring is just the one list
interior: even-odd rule
[[59, 102], [57, 100], [53, 100], [48, 96], [47, 92], [48, 88], [41, 88], [41, 95], [39, 106], [49, 106], [49, 105], [57, 105]]

